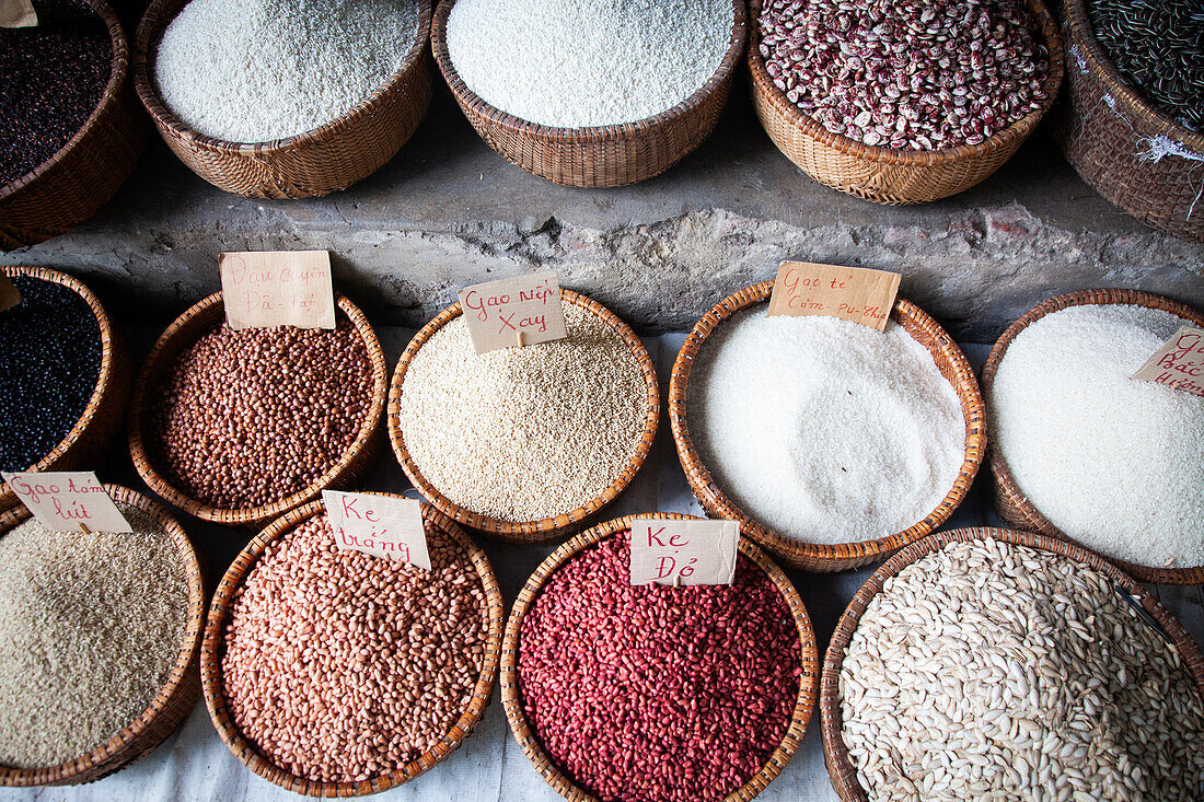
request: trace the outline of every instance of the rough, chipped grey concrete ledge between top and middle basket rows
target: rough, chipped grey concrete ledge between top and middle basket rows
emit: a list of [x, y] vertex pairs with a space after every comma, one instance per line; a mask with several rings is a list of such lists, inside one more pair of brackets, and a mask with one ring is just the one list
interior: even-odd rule
[[742, 89], [697, 152], [621, 189], [559, 187], [512, 166], [442, 84], [391, 163], [325, 199], [222, 193], [155, 138], [94, 219], [0, 263], [66, 267], [118, 311], [166, 319], [218, 288], [222, 250], [293, 248], [329, 248], [341, 289], [373, 319], [408, 326], [464, 284], [555, 269], [641, 331], [681, 330], [785, 258], [897, 270], [903, 294], [961, 340], [991, 341], [1044, 297], [1074, 289], [1144, 289], [1204, 308], [1204, 246], [1109, 205], [1044, 131], [962, 195], [887, 207], [796, 170]]

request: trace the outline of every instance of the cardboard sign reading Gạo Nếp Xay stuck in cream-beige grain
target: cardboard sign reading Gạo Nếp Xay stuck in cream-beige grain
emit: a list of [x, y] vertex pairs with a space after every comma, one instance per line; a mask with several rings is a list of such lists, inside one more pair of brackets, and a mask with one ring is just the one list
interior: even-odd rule
[[478, 354], [568, 336], [555, 272], [473, 284], [458, 296]]

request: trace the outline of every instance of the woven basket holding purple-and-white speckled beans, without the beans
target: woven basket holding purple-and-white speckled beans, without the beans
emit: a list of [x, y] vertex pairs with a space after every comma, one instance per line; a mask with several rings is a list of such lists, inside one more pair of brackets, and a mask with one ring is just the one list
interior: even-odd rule
[[774, 85], [761, 59], [757, 18], [761, 0], [751, 0], [748, 63], [752, 106], [769, 138], [803, 172], [820, 182], [879, 204], [923, 204], [964, 191], [998, 170], [1037, 128], [1062, 82], [1062, 43], [1057, 24], [1041, 0], [1028, 0], [1049, 48], [1050, 72], [1041, 107], [979, 145], [940, 151], [870, 147], [832, 134], [790, 102]]

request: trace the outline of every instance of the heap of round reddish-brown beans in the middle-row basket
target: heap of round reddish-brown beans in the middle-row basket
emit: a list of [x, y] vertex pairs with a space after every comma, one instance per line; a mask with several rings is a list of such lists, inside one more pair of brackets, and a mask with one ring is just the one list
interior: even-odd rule
[[149, 411], [165, 477], [216, 507], [300, 493], [355, 442], [372, 407], [364, 335], [338, 328], [214, 328], [167, 368]]

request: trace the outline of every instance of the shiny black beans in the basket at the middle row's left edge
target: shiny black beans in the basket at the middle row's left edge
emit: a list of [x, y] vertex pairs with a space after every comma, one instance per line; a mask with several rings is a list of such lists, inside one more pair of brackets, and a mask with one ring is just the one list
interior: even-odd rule
[[100, 324], [71, 288], [17, 276], [22, 301], [0, 312], [0, 470], [54, 450], [100, 378]]

